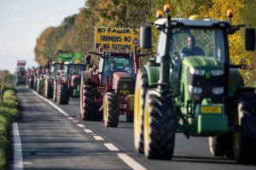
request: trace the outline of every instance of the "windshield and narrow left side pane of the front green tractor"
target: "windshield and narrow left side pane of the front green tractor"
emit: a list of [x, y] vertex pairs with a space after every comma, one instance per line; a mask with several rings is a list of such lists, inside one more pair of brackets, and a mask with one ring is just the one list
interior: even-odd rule
[[[160, 33], [158, 63], [164, 54], [164, 34]], [[170, 46], [172, 60], [196, 55], [212, 57], [224, 63], [224, 34], [218, 28], [173, 28]]]

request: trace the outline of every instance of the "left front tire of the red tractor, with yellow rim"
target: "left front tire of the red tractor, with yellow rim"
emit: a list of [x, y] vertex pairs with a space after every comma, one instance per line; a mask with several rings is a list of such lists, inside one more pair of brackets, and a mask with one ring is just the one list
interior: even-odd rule
[[119, 125], [119, 100], [118, 95], [108, 92], [104, 97], [103, 116], [105, 127], [118, 127]]

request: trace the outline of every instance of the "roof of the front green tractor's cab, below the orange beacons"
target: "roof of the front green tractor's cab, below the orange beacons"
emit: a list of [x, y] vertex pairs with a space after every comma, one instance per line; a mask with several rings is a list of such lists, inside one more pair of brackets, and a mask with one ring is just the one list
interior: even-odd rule
[[[166, 25], [167, 19], [158, 19], [154, 22], [155, 26], [164, 26]], [[230, 21], [227, 20], [189, 20], [183, 18], [172, 18], [171, 25], [173, 27], [180, 26], [191, 26], [191, 27], [219, 27], [219, 28], [228, 28], [231, 26]]]

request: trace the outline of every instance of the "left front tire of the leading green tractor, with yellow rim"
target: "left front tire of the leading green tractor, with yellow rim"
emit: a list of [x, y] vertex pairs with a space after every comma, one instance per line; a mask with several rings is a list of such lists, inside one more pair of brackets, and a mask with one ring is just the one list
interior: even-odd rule
[[148, 89], [144, 109], [144, 154], [148, 159], [171, 160], [176, 118], [169, 90]]

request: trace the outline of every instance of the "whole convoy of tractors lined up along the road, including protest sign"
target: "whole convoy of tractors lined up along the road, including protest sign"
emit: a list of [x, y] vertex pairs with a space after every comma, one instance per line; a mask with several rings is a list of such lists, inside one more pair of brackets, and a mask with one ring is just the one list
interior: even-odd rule
[[[98, 52], [90, 52], [96, 65], [90, 55], [59, 51], [57, 61], [27, 71], [26, 84], [59, 105], [79, 98], [84, 121], [118, 127], [124, 115], [133, 122], [135, 150], [148, 159], [171, 160], [176, 133], [183, 133], [208, 137], [213, 156], [255, 162], [255, 89], [244, 85], [239, 69], [247, 65], [231, 64], [229, 48], [230, 35], [245, 27], [245, 48], [255, 50], [255, 30], [233, 26], [230, 10], [228, 20], [177, 19], [170, 10], [166, 4], [153, 24], [160, 31], [155, 62], [143, 65], [149, 54], [138, 47], [151, 48], [151, 26], [96, 27]], [[135, 34], [122, 37], [125, 32]], [[113, 37], [126, 41], [109, 42]]]

